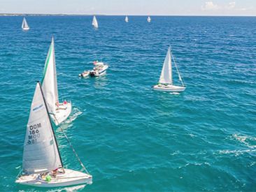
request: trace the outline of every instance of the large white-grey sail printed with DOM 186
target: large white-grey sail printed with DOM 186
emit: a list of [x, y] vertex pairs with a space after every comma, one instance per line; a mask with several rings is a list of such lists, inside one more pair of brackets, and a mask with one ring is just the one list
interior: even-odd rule
[[22, 167], [26, 174], [46, 172], [62, 167], [57, 142], [39, 83], [36, 84], [31, 103]]

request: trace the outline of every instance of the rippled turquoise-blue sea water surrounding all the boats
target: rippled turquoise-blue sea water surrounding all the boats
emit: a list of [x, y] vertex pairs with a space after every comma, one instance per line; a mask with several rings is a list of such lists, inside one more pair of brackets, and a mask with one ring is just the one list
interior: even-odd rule
[[[99, 16], [96, 31], [91, 20], [27, 17], [24, 33], [22, 17], [0, 17], [0, 190], [39, 191], [14, 182], [54, 35], [59, 98], [73, 103], [62, 128], [93, 176], [81, 191], [255, 191], [255, 17]], [[169, 45], [183, 94], [151, 89]], [[107, 75], [80, 79], [96, 59]]]

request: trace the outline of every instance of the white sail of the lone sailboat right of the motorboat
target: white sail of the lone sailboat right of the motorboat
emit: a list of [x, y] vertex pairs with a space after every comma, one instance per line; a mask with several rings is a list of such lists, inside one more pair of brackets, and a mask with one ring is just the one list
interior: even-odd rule
[[159, 83], [163, 84], [173, 84], [172, 71], [171, 71], [171, 50], [167, 51], [166, 57], [164, 59], [164, 65], [162, 68], [162, 73], [159, 78]]

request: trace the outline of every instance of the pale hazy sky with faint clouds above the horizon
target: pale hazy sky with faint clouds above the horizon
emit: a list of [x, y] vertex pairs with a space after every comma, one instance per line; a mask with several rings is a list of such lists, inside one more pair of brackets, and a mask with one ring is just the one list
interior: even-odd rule
[[256, 0], [0, 0], [0, 13], [256, 16]]

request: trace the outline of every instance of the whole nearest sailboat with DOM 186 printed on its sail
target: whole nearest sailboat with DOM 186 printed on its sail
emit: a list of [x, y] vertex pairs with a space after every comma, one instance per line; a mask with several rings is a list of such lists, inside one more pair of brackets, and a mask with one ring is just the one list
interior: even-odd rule
[[40, 187], [92, 184], [88, 172], [64, 168], [40, 82], [36, 83], [27, 123], [22, 172], [15, 182]]

